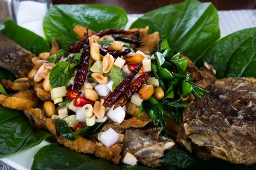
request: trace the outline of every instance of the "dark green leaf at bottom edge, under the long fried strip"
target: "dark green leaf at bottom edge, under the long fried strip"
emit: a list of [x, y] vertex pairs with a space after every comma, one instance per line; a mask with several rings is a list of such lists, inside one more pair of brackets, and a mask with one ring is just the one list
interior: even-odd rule
[[110, 161], [69, 150], [61, 144], [49, 144], [34, 156], [32, 170], [153, 170], [142, 166], [115, 165]]

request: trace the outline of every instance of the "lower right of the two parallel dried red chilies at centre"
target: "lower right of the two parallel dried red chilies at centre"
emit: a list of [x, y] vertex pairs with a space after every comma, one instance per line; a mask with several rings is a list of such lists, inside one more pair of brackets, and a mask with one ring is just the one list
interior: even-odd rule
[[122, 97], [116, 102], [113, 110], [118, 108], [120, 105], [122, 105], [128, 98], [130, 98], [136, 91], [138, 91], [144, 84], [147, 82], [149, 76], [148, 74], [141, 74], [136, 81], [129, 87], [125, 93], [122, 95]]

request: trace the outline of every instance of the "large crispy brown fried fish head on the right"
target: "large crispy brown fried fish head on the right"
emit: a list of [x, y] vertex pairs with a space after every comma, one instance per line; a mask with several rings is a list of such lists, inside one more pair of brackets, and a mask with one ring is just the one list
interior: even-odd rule
[[177, 141], [201, 159], [256, 163], [256, 79], [217, 80], [183, 112]]

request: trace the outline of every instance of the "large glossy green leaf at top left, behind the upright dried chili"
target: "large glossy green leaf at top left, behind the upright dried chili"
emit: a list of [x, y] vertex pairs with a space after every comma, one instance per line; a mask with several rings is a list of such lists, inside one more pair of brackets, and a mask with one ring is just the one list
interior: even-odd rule
[[89, 26], [93, 31], [108, 28], [124, 28], [128, 22], [127, 15], [122, 8], [105, 5], [55, 5], [44, 17], [43, 27], [47, 41], [58, 42], [60, 48], [67, 48], [79, 40], [73, 31], [77, 25]]

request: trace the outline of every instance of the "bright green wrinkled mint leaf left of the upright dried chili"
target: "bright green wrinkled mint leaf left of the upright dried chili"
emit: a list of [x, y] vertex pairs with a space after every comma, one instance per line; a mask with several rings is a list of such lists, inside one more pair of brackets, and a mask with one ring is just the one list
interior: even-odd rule
[[[65, 71], [65, 69], [67, 69]], [[49, 74], [49, 82], [52, 88], [57, 88], [67, 83], [72, 74], [75, 71], [75, 66], [68, 65], [67, 61], [58, 62], [51, 70]]]

